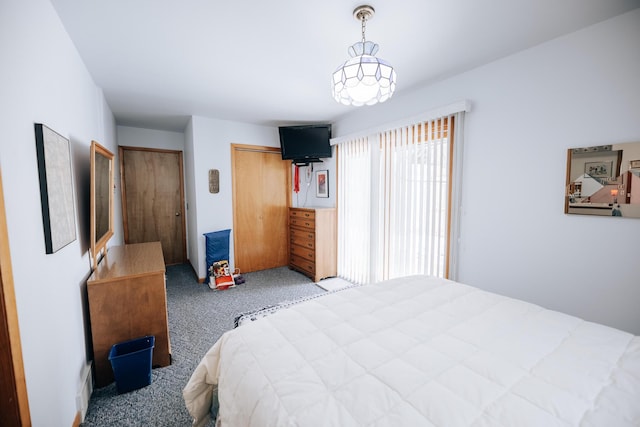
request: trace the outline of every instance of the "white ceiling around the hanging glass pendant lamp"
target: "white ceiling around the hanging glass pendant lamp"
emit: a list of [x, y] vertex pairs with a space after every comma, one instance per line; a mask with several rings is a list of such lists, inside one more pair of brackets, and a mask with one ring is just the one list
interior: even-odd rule
[[[191, 115], [265, 125], [353, 108], [331, 73], [360, 40], [396, 69], [394, 97], [640, 7], [640, 0], [51, 0], [120, 125]], [[387, 102], [393, 102], [394, 98]]]

